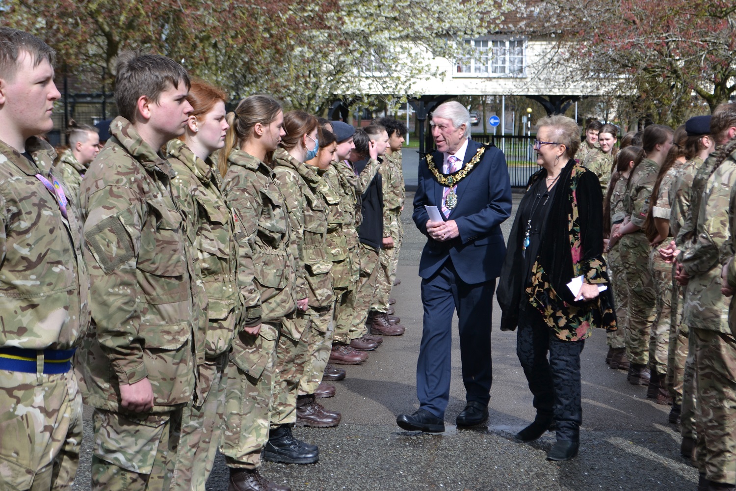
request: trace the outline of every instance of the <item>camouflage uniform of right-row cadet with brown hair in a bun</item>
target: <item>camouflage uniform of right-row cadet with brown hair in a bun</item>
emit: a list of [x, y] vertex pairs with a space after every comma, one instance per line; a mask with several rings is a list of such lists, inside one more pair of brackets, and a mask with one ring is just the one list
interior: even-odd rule
[[[649, 210], [649, 200], [659, 166], [654, 160], [644, 158], [629, 175], [622, 204], [631, 223], [644, 226]], [[620, 239], [620, 258], [626, 274], [629, 296], [629, 323], [626, 357], [631, 363], [647, 364], [650, 328], [656, 319], [654, 279], [649, 271], [651, 247], [642, 230], [629, 233]]]

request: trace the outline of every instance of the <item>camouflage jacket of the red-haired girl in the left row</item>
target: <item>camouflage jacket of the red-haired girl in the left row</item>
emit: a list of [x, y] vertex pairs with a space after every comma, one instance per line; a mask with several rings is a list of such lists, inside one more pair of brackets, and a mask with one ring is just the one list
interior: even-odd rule
[[197, 361], [230, 350], [241, 328], [243, 299], [238, 289], [238, 245], [233, 215], [220, 191], [221, 178], [211, 160], [202, 160], [179, 139], [166, 145], [174, 179], [171, 191], [186, 226], [197, 278], [195, 312], [199, 316]]

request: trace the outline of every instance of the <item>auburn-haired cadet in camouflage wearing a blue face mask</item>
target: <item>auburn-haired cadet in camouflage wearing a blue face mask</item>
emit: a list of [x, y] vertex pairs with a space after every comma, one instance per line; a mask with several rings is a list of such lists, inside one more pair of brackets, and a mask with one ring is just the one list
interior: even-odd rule
[[[340, 423], [339, 413], [326, 412], [316, 403], [314, 390], [298, 395], [306, 367], [311, 370], [313, 353], [319, 350], [317, 340], [324, 340], [332, 317], [334, 294], [326, 255], [327, 205], [322, 197], [324, 181], [316, 169], [304, 163], [315, 158], [319, 150], [319, 129], [314, 116], [304, 111], [291, 111], [284, 116], [286, 137], [274, 153], [274, 181], [284, 195], [294, 241], [292, 253], [297, 263], [297, 294], [308, 304], [297, 311], [297, 322], [305, 325], [301, 342], [289, 347], [300, 361], [291, 368], [289, 397], [282, 398], [272, 411], [271, 424], [298, 422], [319, 428]], [[312, 148], [310, 149], [309, 146]], [[314, 341], [313, 341], [314, 339]], [[330, 340], [331, 343], [331, 340]], [[280, 357], [280, 355], [279, 355]], [[324, 367], [322, 367], [324, 370]], [[284, 390], [286, 392], [286, 390]]]

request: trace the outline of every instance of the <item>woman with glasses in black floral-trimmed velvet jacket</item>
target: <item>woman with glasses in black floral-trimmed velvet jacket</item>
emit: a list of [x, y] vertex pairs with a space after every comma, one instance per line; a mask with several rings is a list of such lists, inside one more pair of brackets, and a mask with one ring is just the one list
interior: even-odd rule
[[[565, 116], [537, 122], [539, 172], [529, 179], [509, 236], [498, 303], [501, 329], [517, 325], [517, 356], [537, 417], [516, 437], [556, 428], [549, 460], [578, 453], [582, 422], [580, 353], [592, 327], [615, 329], [603, 258], [603, 194], [598, 177], [576, 164], [580, 128]], [[567, 286], [573, 278], [577, 286]], [[574, 291], [573, 291], [574, 290]], [[549, 359], [547, 358], [549, 353]]]

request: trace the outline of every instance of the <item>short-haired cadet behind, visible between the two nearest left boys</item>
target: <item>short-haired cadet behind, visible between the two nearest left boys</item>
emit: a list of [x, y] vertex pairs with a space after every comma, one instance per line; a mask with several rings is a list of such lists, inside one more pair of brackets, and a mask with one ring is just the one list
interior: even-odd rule
[[96, 127], [71, 121], [66, 135], [69, 148], [62, 152], [54, 167], [58, 169], [65, 189], [68, 189], [68, 198], [79, 207], [79, 186], [87, 167], [99, 153], [99, 134]]

